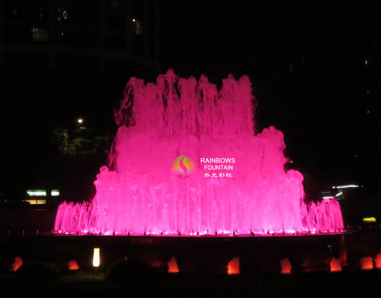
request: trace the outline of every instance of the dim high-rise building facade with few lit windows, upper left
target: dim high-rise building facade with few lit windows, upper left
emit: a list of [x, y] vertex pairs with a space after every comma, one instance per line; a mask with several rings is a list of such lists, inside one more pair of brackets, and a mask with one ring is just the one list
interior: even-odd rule
[[0, 67], [159, 72], [156, 0], [4, 0]]

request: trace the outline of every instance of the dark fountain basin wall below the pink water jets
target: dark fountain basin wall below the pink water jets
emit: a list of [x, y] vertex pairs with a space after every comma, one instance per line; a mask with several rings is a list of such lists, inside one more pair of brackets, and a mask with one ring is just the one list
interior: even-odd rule
[[75, 259], [81, 270], [92, 270], [94, 247], [101, 251], [100, 271], [115, 261], [138, 259], [159, 272], [168, 271], [175, 257], [180, 273], [227, 273], [227, 264], [239, 257], [244, 275], [280, 274], [280, 261], [288, 258], [292, 274], [330, 272], [332, 257], [345, 261], [342, 271], [361, 270], [361, 258], [376, 258], [381, 231], [354, 231], [284, 236], [138, 236], [138, 235], [4, 235], [0, 264], [9, 268], [15, 257], [24, 264], [44, 261], [65, 269]]

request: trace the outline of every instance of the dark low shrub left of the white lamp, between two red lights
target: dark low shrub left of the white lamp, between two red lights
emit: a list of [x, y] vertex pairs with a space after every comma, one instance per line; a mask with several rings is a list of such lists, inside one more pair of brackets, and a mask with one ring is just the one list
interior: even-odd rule
[[31, 262], [23, 264], [15, 272], [15, 278], [26, 283], [39, 283], [58, 280], [60, 271], [56, 266]]

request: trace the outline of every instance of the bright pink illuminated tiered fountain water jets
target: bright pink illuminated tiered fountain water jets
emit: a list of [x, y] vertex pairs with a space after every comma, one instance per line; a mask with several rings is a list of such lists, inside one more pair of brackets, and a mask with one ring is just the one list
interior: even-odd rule
[[[258, 235], [342, 229], [336, 200], [303, 202], [303, 176], [285, 170], [282, 132], [270, 127], [254, 134], [255, 108], [246, 76], [230, 75], [220, 91], [204, 75], [196, 82], [172, 70], [156, 84], [130, 79], [115, 112], [120, 127], [110, 164], [97, 175], [94, 199], [61, 204], [54, 230]], [[171, 170], [182, 155], [195, 164], [187, 179]], [[230, 170], [208, 171], [202, 158], [235, 163], [230, 160]]]

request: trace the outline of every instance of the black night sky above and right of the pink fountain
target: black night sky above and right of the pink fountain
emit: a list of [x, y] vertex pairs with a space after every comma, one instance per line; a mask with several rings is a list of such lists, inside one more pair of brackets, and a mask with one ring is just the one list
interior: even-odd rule
[[206, 74], [218, 86], [227, 74], [248, 75], [256, 132], [283, 131], [292, 167], [318, 188], [370, 186], [380, 166], [380, 8], [376, 1], [164, 1], [162, 67]]

